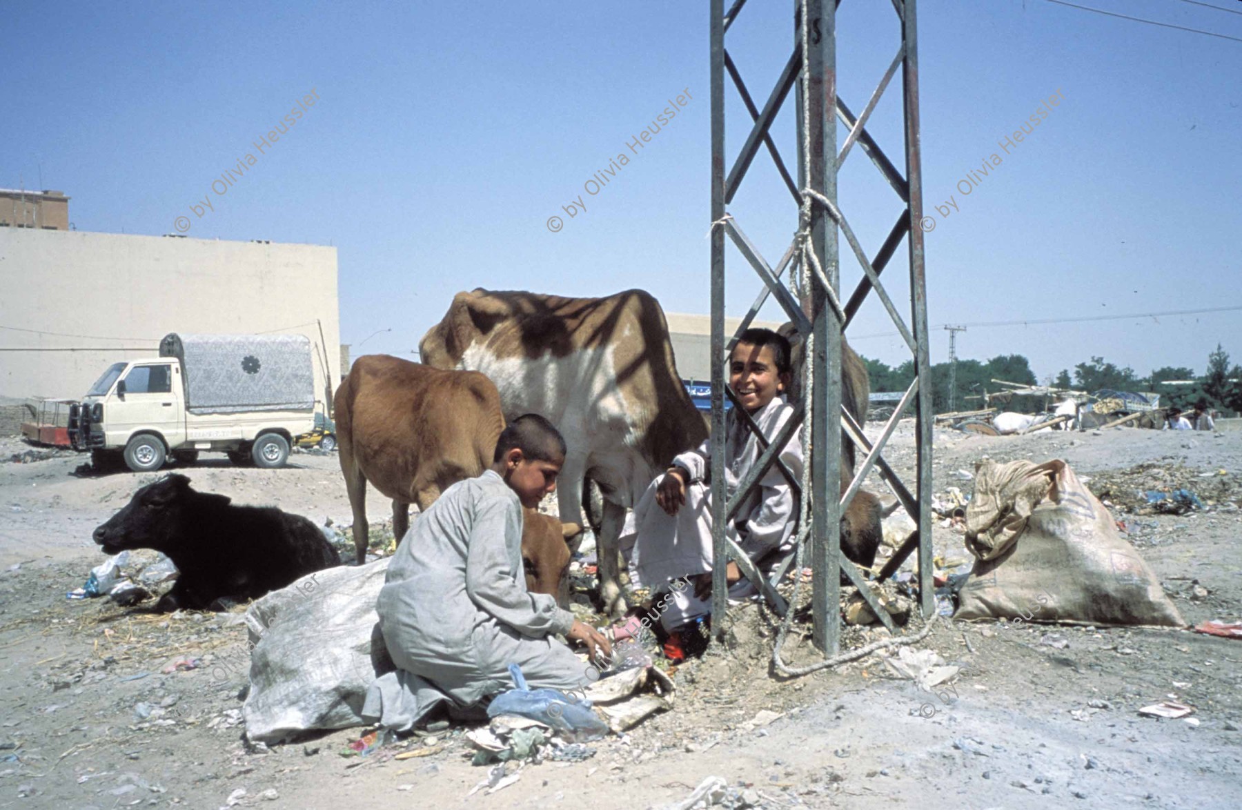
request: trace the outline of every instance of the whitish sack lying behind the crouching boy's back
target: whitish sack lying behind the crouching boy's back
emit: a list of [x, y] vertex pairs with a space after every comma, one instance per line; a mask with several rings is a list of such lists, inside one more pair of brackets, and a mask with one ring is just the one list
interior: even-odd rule
[[396, 668], [375, 612], [390, 559], [303, 576], [250, 606], [250, 694], [241, 711], [251, 740], [366, 724], [368, 687]]

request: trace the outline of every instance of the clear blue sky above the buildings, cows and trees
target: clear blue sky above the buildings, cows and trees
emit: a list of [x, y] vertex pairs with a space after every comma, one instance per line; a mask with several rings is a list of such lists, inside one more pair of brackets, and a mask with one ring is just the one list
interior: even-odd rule
[[[1242, 37], [1242, 15], [1180, 0], [1082, 5]], [[759, 99], [787, 58], [791, 10], [751, 0], [727, 37]], [[895, 51], [895, 16], [888, 0], [845, 0], [838, 20], [840, 92], [858, 111]], [[642, 287], [666, 311], [708, 311], [705, 2], [14, 4], [0, 42], [0, 186], [66, 191], [79, 230], [158, 235], [186, 216], [197, 237], [334, 245], [342, 340], [365, 340], [363, 353], [411, 357], [476, 286]], [[1242, 42], [1047, 0], [920, 0], [919, 56], [933, 325], [1242, 306]], [[898, 82], [869, 129], [900, 166]], [[320, 101], [257, 153], [312, 89]], [[626, 143], [687, 89], [632, 154]], [[1058, 89], [1064, 102], [999, 152]], [[749, 118], [732, 84], [727, 98], [733, 155]], [[791, 168], [792, 121], [786, 103], [774, 134]], [[994, 152], [1001, 165], [956, 191]], [[246, 153], [255, 165], [212, 194]], [[615, 179], [584, 193], [622, 153]], [[958, 210], [940, 216], [950, 195]], [[215, 207], [197, 216], [204, 196]], [[587, 210], [569, 217], [579, 196]], [[900, 211], [857, 148], [841, 204], [869, 253]], [[765, 152], [730, 212], [775, 262], [796, 209]], [[759, 282], [732, 247], [728, 261], [740, 314]], [[898, 301], [904, 271], [894, 261], [886, 276]], [[859, 276], [843, 251], [842, 277], [852, 288]], [[1217, 342], [1242, 362], [1240, 316], [971, 327], [958, 353], [1026, 354], [1041, 379], [1092, 355], [1201, 373]], [[908, 357], [886, 333], [872, 297], [850, 334], [864, 355]], [[948, 357], [943, 329], [932, 357]]]

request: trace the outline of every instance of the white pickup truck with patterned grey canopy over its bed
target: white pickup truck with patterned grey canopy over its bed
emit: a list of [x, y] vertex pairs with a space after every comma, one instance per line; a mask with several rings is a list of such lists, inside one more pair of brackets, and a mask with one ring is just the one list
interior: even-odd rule
[[304, 335], [169, 334], [159, 354], [113, 364], [70, 407], [70, 441], [96, 467], [123, 458], [148, 472], [170, 456], [194, 463], [200, 451], [282, 467], [317, 406], [327, 412]]

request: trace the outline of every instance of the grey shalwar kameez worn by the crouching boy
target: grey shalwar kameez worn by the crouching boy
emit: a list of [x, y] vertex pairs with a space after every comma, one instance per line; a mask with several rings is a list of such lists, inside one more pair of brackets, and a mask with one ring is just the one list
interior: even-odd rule
[[471, 706], [512, 688], [510, 663], [530, 688], [587, 683], [586, 667], [553, 637], [574, 615], [527, 591], [522, 503], [491, 470], [445, 489], [414, 522], [376, 611], [399, 671], [376, 680], [364, 714], [385, 727], [406, 730], [445, 697]]

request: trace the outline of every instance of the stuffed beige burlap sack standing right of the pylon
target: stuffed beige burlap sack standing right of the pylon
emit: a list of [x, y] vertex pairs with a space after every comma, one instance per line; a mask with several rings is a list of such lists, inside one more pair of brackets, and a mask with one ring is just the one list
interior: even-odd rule
[[966, 548], [976, 562], [954, 619], [1186, 625], [1063, 461], [980, 462]]

